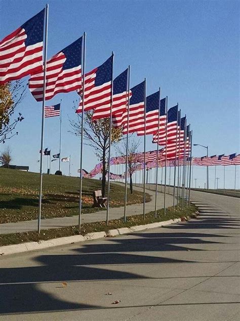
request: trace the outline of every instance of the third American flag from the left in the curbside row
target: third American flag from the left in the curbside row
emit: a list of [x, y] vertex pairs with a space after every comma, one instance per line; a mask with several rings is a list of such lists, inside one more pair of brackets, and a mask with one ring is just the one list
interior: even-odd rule
[[[85, 75], [84, 110], [104, 108], [110, 110], [112, 87], [113, 55], [101, 66], [93, 69]], [[83, 95], [82, 90], [78, 90]], [[83, 101], [79, 103], [76, 113], [81, 113]]]

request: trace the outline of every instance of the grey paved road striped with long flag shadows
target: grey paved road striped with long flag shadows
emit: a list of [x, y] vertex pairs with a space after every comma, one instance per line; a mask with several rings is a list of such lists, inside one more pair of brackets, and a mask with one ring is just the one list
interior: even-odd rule
[[190, 222], [0, 256], [0, 319], [239, 320], [240, 200], [191, 198]]

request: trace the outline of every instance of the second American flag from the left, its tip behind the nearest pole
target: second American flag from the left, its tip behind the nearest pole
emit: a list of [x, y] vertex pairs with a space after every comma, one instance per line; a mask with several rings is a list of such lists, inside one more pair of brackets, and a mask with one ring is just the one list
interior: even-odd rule
[[[74, 41], [47, 61], [46, 100], [57, 93], [80, 90], [82, 88], [82, 42], [83, 37]], [[43, 101], [44, 72], [34, 74], [28, 87], [37, 102]]]

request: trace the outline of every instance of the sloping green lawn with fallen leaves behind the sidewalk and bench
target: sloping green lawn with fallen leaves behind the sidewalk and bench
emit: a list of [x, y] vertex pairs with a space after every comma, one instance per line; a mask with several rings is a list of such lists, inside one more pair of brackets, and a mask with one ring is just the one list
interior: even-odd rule
[[[42, 217], [78, 215], [79, 184], [77, 177], [44, 175]], [[96, 212], [92, 208], [92, 192], [101, 189], [101, 181], [83, 180], [83, 214]], [[37, 218], [39, 174], [0, 168], [0, 223]], [[110, 206], [124, 205], [125, 187], [111, 183]], [[143, 193], [128, 190], [128, 205], [142, 203]], [[146, 201], [150, 196], [146, 195]]]

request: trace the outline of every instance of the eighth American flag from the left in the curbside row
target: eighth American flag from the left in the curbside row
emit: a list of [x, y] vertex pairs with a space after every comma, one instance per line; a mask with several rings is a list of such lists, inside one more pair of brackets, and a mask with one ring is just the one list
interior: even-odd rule
[[[178, 105], [170, 108], [167, 113], [167, 140], [173, 140], [177, 138], [177, 120], [178, 120]], [[166, 126], [159, 129], [159, 131], [153, 135], [153, 143], [158, 142], [159, 145], [166, 145]]]

